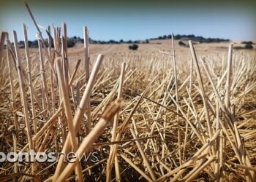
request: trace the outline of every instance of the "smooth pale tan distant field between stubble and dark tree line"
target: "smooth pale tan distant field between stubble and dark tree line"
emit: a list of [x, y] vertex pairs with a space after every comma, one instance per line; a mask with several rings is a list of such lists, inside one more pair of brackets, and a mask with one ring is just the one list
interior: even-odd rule
[[[174, 40], [174, 46], [177, 52], [177, 55], [190, 55], [189, 47], [181, 47], [178, 45], [179, 40]], [[181, 40], [183, 41], [183, 40]], [[183, 41], [185, 44], [188, 41]], [[128, 52], [132, 52], [133, 55], [141, 55], [146, 54], [150, 55], [151, 53], [157, 53], [159, 50], [162, 51], [171, 51], [171, 39], [167, 40], [152, 40], [149, 41], [149, 44], [138, 44], [139, 48], [138, 51], [132, 52], [128, 50], [129, 44], [91, 44], [90, 45], [90, 52], [91, 55], [97, 54], [104, 54], [106, 56], [116, 56], [116, 55], [124, 55]], [[212, 54], [219, 54], [219, 53], [227, 53], [227, 47], [230, 43], [229, 42], [220, 42], [220, 43], [198, 43], [195, 42], [195, 50], [197, 54], [200, 55], [212, 55]], [[244, 44], [241, 44], [240, 41], [234, 42], [234, 47], [239, 46], [243, 47]], [[255, 49], [254, 49], [255, 51]], [[69, 54], [83, 52], [83, 44], [77, 44], [75, 47], [69, 49]], [[238, 52], [238, 51], [237, 51]], [[250, 52], [250, 51], [249, 51]]]

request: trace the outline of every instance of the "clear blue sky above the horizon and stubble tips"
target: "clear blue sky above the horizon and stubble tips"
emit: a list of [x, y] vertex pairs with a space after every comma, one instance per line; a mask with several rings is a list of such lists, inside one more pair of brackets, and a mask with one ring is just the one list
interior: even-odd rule
[[[68, 36], [83, 37], [83, 26], [89, 27], [91, 39], [139, 40], [173, 33], [195, 34], [234, 41], [256, 40], [254, 4], [168, 3], [167, 1], [29, 1], [42, 26], [67, 23]], [[126, 2], [126, 3], [125, 3]], [[18, 32], [23, 39], [22, 23], [29, 28], [29, 39], [36, 39], [23, 0], [9, 0], [0, 6], [0, 31]], [[12, 37], [12, 36], [11, 36]], [[45, 36], [46, 37], [46, 36]], [[12, 38], [11, 38], [12, 39]]]

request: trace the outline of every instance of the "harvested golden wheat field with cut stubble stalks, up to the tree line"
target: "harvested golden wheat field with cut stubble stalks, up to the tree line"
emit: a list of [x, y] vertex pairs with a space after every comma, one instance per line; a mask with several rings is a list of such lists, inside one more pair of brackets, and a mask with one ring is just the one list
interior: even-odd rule
[[255, 50], [38, 31], [1, 33], [0, 181], [256, 181]]

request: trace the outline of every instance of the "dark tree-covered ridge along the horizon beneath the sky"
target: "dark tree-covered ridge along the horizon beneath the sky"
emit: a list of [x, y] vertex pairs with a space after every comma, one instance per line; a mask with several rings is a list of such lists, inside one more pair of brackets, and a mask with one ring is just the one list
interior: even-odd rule
[[[203, 36], [195, 36], [195, 35], [180, 35], [177, 34], [173, 36], [174, 39], [176, 40], [192, 40], [192, 41], [197, 41], [199, 43], [212, 43], [212, 42], [223, 42], [223, 41], [230, 41], [230, 39], [219, 39], [219, 38], [204, 38]], [[165, 35], [165, 36], [159, 36], [157, 38], [151, 38], [151, 39], [146, 39], [146, 40], [137, 40], [137, 41], [124, 41], [121, 39], [120, 41], [114, 41], [114, 40], [109, 40], [109, 41], [100, 41], [100, 40], [94, 40], [94, 39], [89, 39], [89, 42], [91, 44], [148, 44], [149, 41], [151, 40], [164, 40], [164, 39], [171, 39], [171, 34], [170, 35]], [[73, 47], [75, 44], [78, 43], [83, 43], [83, 39], [81, 39], [79, 36], [73, 36], [69, 37], [67, 39], [67, 47]], [[48, 44], [47, 42], [45, 42]], [[20, 47], [24, 47], [24, 41], [19, 41]], [[35, 41], [29, 41], [29, 47], [38, 47], [37, 40]], [[52, 45], [53, 47], [53, 45]]]

